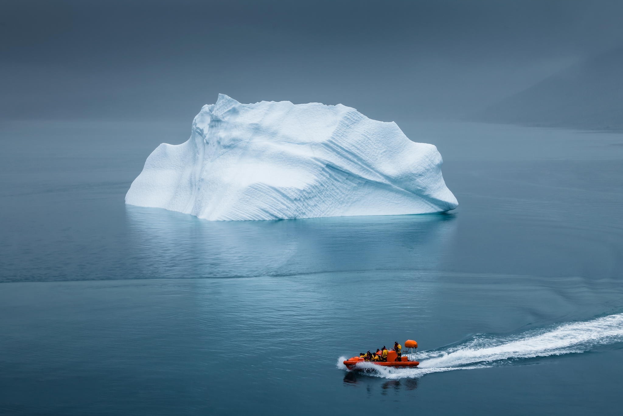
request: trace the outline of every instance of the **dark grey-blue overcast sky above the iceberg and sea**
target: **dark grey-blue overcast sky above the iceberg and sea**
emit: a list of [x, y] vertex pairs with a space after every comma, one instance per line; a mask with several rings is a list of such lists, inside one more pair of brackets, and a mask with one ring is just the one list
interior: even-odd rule
[[192, 119], [241, 102], [459, 117], [623, 44], [619, 1], [6, 1], [3, 119]]

